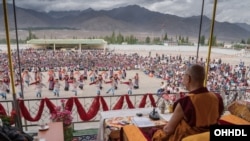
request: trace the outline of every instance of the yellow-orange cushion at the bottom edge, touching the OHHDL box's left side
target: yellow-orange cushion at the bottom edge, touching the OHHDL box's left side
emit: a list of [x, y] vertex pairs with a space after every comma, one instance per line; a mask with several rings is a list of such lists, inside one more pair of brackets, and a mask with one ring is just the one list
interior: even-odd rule
[[200, 134], [190, 135], [182, 139], [182, 141], [209, 141], [210, 132], [204, 132]]

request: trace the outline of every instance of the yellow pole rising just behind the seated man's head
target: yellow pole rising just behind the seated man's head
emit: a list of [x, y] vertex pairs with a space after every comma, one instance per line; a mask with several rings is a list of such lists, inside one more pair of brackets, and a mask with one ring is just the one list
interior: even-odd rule
[[213, 17], [212, 17], [212, 23], [211, 23], [211, 30], [210, 30], [210, 40], [209, 40], [209, 48], [208, 48], [208, 55], [207, 55], [207, 63], [206, 63], [206, 77], [204, 81], [204, 86], [207, 85], [207, 77], [208, 77], [208, 71], [209, 71], [209, 64], [210, 64], [210, 55], [211, 55], [211, 47], [213, 43], [213, 33], [214, 33], [214, 21], [215, 21], [215, 13], [216, 13], [216, 6], [217, 6], [217, 0], [214, 0], [214, 8], [213, 8]]

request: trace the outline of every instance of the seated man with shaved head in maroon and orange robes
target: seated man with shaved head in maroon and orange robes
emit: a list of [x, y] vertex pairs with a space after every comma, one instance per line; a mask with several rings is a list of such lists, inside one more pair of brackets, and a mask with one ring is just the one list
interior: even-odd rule
[[181, 141], [189, 135], [207, 132], [210, 125], [218, 123], [223, 101], [203, 86], [204, 80], [203, 66], [195, 64], [186, 70], [182, 83], [190, 92], [174, 103], [173, 116], [163, 130], [154, 133], [153, 141]]

